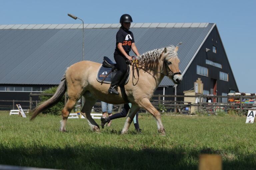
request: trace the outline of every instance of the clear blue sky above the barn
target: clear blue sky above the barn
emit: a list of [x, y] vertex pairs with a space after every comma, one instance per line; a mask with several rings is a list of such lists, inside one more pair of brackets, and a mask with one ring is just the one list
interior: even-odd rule
[[[216, 23], [240, 92], [256, 93], [256, 1], [228, 0], [0, 0], [0, 25], [118, 23]], [[0, 37], [1, 38], [1, 37]]]

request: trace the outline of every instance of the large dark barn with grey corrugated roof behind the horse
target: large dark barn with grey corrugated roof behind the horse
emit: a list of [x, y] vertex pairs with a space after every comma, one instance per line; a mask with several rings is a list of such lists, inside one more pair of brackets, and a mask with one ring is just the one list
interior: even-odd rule
[[[108, 56], [114, 61], [119, 27], [85, 24], [84, 60], [101, 63]], [[165, 77], [155, 94], [184, 95], [198, 78], [204, 94], [238, 91], [216, 24], [132, 23], [130, 30], [140, 54], [183, 42], [178, 51], [182, 83], [175, 86]], [[82, 35], [82, 24], [0, 25], [0, 108], [6, 105], [1, 100], [29, 100], [29, 93], [58, 85], [66, 68], [83, 59]]]

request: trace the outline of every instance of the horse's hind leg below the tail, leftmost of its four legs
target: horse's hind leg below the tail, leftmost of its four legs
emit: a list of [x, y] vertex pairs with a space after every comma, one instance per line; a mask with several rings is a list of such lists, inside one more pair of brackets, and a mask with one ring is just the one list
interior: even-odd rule
[[68, 116], [75, 106], [76, 101], [68, 99], [65, 107], [62, 109], [62, 120], [60, 121], [60, 131], [66, 131], [66, 124], [67, 124], [67, 119]]

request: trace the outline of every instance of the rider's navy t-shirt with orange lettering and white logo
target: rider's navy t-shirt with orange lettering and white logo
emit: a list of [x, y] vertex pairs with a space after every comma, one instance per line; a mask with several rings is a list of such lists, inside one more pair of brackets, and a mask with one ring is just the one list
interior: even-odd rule
[[129, 30], [124, 30], [124, 29], [120, 29], [117, 33], [116, 33], [116, 49], [115, 52], [120, 52], [117, 44], [118, 43], [122, 43], [122, 47], [124, 48], [124, 50], [126, 52], [131, 51], [131, 46], [132, 43], [134, 42], [134, 37], [131, 31]]

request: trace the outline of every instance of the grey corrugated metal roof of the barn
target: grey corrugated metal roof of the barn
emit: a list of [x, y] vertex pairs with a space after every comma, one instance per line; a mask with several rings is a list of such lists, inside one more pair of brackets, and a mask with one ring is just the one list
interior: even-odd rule
[[[184, 72], [215, 24], [133, 23], [140, 54], [171, 44], [180, 45]], [[114, 61], [119, 24], [84, 24], [85, 60]], [[15, 28], [15, 29], [14, 29]], [[0, 25], [0, 84], [59, 84], [66, 68], [82, 60], [82, 24]], [[131, 55], [134, 55], [131, 52]], [[161, 86], [173, 85], [165, 77]]]

